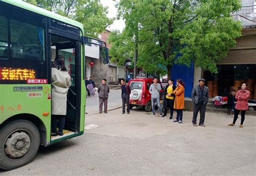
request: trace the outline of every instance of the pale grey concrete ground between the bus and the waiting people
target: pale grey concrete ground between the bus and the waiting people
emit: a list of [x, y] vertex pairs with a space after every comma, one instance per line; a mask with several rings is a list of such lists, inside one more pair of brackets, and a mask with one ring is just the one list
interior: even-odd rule
[[255, 116], [244, 128], [228, 127], [224, 113], [207, 113], [205, 128], [191, 117], [184, 112], [177, 124], [138, 109], [93, 114], [86, 123], [100, 127], [40, 148], [32, 163], [0, 175], [255, 175]]

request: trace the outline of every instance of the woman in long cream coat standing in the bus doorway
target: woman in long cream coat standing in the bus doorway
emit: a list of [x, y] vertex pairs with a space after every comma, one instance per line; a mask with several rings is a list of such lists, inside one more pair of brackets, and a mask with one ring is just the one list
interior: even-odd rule
[[[66, 94], [71, 86], [71, 77], [66, 71], [65, 58], [58, 56], [55, 58], [51, 69], [52, 84], [52, 118], [51, 118], [51, 136], [63, 136], [63, 128], [66, 116]], [[57, 124], [59, 130], [57, 132]]]

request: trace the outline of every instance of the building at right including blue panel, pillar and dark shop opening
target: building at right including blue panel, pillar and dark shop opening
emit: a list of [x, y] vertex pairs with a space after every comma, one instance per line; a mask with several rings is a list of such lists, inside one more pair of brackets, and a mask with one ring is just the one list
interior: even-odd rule
[[[247, 82], [251, 92], [250, 99], [256, 99], [256, 3], [254, 0], [243, 0], [242, 8], [232, 17], [242, 24], [242, 36], [237, 38], [235, 48], [228, 51], [227, 57], [217, 63], [216, 75], [200, 68], [174, 65], [172, 77], [185, 80], [185, 96], [190, 97], [192, 87], [198, 84], [199, 78], [207, 80], [210, 96], [227, 96], [231, 90], [239, 90]], [[182, 70], [182, 73], [180, 72]]]

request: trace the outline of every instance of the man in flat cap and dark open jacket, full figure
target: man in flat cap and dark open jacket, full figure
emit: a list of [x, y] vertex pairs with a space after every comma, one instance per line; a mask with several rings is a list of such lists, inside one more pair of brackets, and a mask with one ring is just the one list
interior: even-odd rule
[[193, 87], [191, 99], [193, 101], [193, 126], [197, 126], [197, 115], [200, 111], [199, 126], [205, 127], [205, 112], [209, 99], [208, 87], [205, 86], [205, 79], [199, 79], [199, 85]]

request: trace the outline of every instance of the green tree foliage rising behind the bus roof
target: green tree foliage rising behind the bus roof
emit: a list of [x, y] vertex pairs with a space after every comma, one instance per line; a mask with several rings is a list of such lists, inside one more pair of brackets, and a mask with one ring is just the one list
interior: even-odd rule
[[84, 25], [86, 35], [96, 36], [113, 23], [108, 18], [107, 8], [99, 0], [26, 0], [40, 8], [66, 16]]

